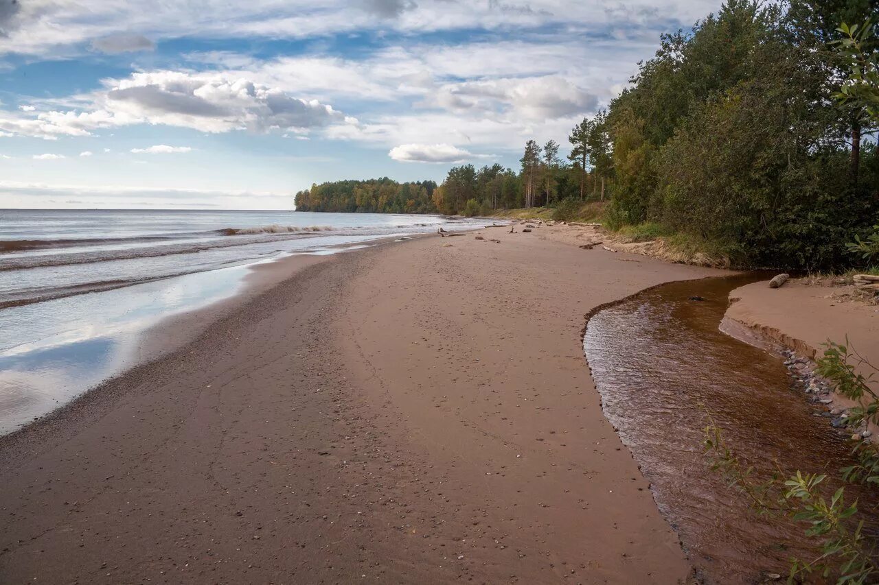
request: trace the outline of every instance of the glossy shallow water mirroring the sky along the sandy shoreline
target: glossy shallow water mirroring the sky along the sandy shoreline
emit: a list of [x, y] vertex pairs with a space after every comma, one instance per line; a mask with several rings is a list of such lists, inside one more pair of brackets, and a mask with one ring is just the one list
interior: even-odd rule
[[[319, 247], [304, 254], [363, 247]], [[251, 266], [268, 261], [0, 310], [0, 434], [133, 366], [144, 331], [168, 316], [233, 296]]]

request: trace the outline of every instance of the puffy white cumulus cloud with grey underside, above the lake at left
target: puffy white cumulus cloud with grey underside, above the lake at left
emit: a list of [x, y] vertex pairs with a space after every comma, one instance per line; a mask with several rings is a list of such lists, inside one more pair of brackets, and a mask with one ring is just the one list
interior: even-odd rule
[[76, 97], [76, 105], [86, 111], [39, 112], [29, 118], [0, 112], [0, 132], [53, 140], [91, 135], [98, 128], [153, 124], [207, 133], [265, 133], [307, 130], [345, 119], [331, 105], [231, 73], [138, 72], [104, 84], [103, 90]]

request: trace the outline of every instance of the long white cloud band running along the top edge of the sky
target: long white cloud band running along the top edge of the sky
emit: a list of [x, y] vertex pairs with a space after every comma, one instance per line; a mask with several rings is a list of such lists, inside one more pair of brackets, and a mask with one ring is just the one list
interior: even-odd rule
[[[352, 10], [357, 5], [362, 10]], [[0, 4], [0, 54], [51, 54], [63, 47], [105, 40], [126, 31], [130, 37], [222, 38], [236, 36], [303, 39], [346, 32], [389, 30], [403, 33], [443, 30], [507, 32], [516, 28], [563, 26], [572, 34], [614, 32], [665, 25], [689, 25], [716, 11], [718, 0], [227, 0], [142, 3], [90, 0], [88, 3], [40, 0]], [[4, 10], [3, 7], [14, 10]], [[8, 12], [8, 13], [7, 13]], [[142, 42], [142, 41], [141, 41]], [[122, 43], [122, 47], [130, 46]], [[515, 61], [512, 60], [511, 61]]]

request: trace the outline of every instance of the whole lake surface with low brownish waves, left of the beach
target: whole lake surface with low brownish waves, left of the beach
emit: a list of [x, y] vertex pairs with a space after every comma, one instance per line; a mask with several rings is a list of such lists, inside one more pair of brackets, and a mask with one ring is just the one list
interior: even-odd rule
[[134, 365], [146, 329], [234, 295], [253, 264], [483, 225], [380, 213], [0, 210], [0, 434]]

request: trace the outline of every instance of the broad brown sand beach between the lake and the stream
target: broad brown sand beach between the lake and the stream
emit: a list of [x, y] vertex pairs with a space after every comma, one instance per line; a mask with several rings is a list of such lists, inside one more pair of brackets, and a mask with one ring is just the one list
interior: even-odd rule
[[178, 321], [206, 329], [0, 439], [0, 581], [686, 581], [580, 335], [716, 272], [553, 229], [280, 262]]

